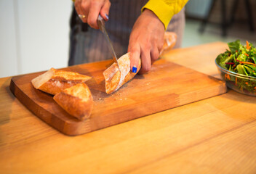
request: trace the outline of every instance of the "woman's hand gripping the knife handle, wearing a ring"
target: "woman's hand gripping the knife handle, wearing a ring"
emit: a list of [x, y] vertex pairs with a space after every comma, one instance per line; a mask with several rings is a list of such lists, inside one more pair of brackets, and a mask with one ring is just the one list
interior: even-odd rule
[[109, 0], [76, 0], [75, 8], [77, 14], [84, 23], [88, 23], [91, 28], [99, 29], [97, 17], [99, 14], [105, 21], [108, 21], [108, 12], [111, 7]]

